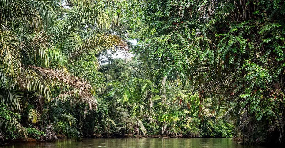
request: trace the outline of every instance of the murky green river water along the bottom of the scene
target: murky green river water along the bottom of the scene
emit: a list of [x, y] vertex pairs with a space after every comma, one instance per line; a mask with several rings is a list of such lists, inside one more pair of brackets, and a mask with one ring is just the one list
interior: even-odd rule
[[64, 148], [264, 148], [262, 146], [244, 146], [235, 144], [229, 138], [106, 138], [106, 139], [83, 139], [82, 142], [74, 140], [58, 140], [46, 143], [18, 143], [0, 148], [32, 148], [32, 147], [64, 147]]

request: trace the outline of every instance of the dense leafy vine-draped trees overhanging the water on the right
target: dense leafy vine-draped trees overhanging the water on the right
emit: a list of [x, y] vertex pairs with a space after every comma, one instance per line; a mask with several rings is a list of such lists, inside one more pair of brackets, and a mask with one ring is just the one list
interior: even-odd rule
[[135, 8], [127, 12], [130, 36], [139, 40], [134, 53], [155, 79], [192, 84], [202, 102], [214, 98], [218, 117], [235, 122], [241, 142], [283, 142], [284, 1], [145, 0], [129, 6]]

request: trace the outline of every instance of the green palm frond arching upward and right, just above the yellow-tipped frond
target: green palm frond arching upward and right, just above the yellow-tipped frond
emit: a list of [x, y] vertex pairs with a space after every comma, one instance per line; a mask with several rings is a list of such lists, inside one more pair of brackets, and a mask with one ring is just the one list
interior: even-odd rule
[[105, 29], [106, 26], [109, 26], [108, 22], [105, 12], [92, 5], [74, 7], [65, 14], [62, 24], [58, 23], [52, 27], [54, 29], [51, 33], [56, 35], [54, 38], [56, 48], [62, 49], [64, 46], [80, 43], [80, 34], [86, 30], [86, 26]]

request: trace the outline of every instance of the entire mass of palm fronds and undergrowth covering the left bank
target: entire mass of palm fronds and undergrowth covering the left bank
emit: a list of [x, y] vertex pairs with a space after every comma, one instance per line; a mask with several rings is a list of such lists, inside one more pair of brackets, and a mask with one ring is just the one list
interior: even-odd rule
[[[0, 2], [0, 138], [57, 134], [81, 139], [70, 106], [97, 108], [95, 92], [104, 82], [95, 55], [126, 51], [127, 44], [106, 30], [118, 25], [119, 5], [103, 1]], [[66, 5], [66, 6], [67, 6]]]

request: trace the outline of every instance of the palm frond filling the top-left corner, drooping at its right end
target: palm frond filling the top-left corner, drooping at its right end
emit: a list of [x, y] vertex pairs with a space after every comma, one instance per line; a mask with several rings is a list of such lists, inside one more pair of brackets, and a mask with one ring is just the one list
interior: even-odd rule
[[14, 24], [29, 28], [42, 27], [42, 19], [55, 21], [55, 13], [44, 0], [2, 0], [0, 2], [0, 27], [13, 28]]

